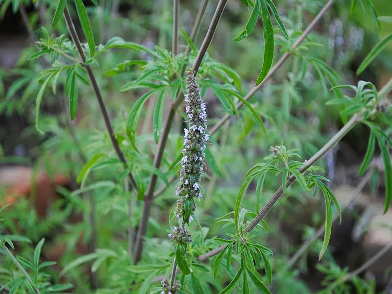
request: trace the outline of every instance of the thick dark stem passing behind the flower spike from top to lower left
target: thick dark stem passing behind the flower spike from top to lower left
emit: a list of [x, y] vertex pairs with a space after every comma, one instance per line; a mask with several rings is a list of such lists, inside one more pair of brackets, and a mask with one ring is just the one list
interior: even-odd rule
[[[214, 36], [215, 29], [218, 25], [218, 22], [221, 18], [224, 6], [226, 5], [227, 0], [220, 0], [217, 9], [215, 10], [214, 16], [212, 18], [210, 27], [208, 28], [208, 32], [204, 38], [203, 44], [201, 45], [201, 49], [199, 50], [199, 54], [196, 57], [195, 64], [193, 66], [193, 70], [197, 72], [197, 69], [199, 68], [201, 64], [201, 60], [204, 57], [204, 54], [207, 52], [208, 46], [211, 43], [212, 37]], [[203, 53], [201, 53], [203, 52]], [[157, 146], [157, 152], [155, 153], [154, 156], [154, 162], [153, 166], [156, 169], [159, 169], [161, 166], [161, 161], [162, 161], [162, 156], [163, 156], [163, 151], [166, 146], [166, 142], [169, 136], [170, 129], [172, 128], [172, 123], [175, 115], [175, 111], [179, 104], [181, 103], [183, 97], [182, 93], [177, 96], [176, 100], [172, 102], [172, 106], [170, 108], [169, 116], [165, 122], [165, 125], [163, 127], [163, 132], [161, 136], [159, 137], [159, 142]], [[134, 254], [134, 263], [136, 264], [141, 256], [142, 256], [142, 251], [143, 251], [143, 238], [146, 234], [147, 231], [147, 225], [148, 225], [148, 218], [150, 215], [150, 210], [151, 210], [151, 202], [153, 198], [153, 193], [155, 189], [157, 181], [157, 175], [156, 173], [153, 173], [151, 175], [151, 179], [148, 185], [147, 193], [144, 197], [144, 206], [143, 206], [143, 211], [142, 211], [142, 217], [139, 223], [139, 229], [138, 229], [138, 234], [136, 237], [136, 245], [135, 245], [135, 254]]]

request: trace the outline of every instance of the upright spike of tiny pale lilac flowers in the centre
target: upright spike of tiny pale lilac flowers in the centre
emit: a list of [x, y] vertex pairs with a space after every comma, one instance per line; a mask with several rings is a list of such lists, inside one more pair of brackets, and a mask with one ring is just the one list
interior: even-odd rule
[[[195, 72], [189, 70], [186, 76], [187, 92], [185, 95], [185, 110], [189, 119], [189, 128], [184, 129], [184, 148], [182, 150], [183, 157], [181, 159], [180, 185], [177, 187], [177, 200], [175, 207], [175, 216], [178, 220], [182, 219], [182, 226], [173, 227], [172, 234], [169, 238], [176, 245], [193, 242], [191, 234], [185, 229], [185, 224], [192, 221], [192, 215], [196, 209], [195, 199], [201, 199], [203, 193], [200, 187], [201, 176], [204, 165], [204, 149], [208, 141], [209, 135], [206, 134], [207, 114], [206, 106], [200, 97], [200, 88], [196, 83]], [[174, 261], [175, 267], [175, 261]], [[171, 277], [171, 285], [177, 285], [175, 289], [168, 288], [166, 278], [162, 280], [162, 294], [175, 294], [179, 291], [179, 283], [174, 282], [175, 270]], [[170, 287], [170, 286], [169, 286]]]

